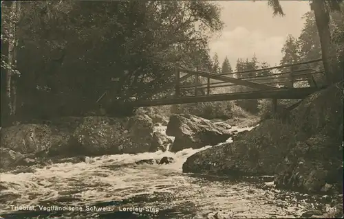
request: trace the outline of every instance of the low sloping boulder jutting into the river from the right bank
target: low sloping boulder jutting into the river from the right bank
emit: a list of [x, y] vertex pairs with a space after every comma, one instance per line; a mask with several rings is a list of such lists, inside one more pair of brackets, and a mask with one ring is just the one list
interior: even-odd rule
[[[193, 154], [186, 159], [183, 172], [217, 175], [274, 174], [275, 167], [288, 152], [291, 128], [278, 127], [281, 122], [269, 119], [237, 141], [224, 143]], [[267, 131], [269, 130], [269, 131]]]

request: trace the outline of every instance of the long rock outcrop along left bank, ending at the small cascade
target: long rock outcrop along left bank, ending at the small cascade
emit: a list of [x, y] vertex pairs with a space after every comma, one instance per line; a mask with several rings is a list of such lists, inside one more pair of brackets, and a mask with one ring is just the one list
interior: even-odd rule
[[[147, 115], [126, 118], [65, 117], [49, 124], [1, 129], [1, 166], [30, 165], [47, 157], [98, 156], [166, 150], [171, 139], [153, 132]], [[34, 154], [28, 157], [25, 154]], [[17, 163], [17, 160], [21, 162]], [[32, 161], [33, 160], [33, 161]], [[28, 161], [25, 163], [25, 161]], [[36, 161], [36, 163], [40, 161]]]

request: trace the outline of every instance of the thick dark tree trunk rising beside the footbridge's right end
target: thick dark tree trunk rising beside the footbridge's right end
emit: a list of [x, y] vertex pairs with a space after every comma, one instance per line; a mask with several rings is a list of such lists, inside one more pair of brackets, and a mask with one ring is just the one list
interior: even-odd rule
[[321, 56], [323, 58], [323, 67], [326, 73], [327, 84], [334, 82], [334, 72], [332, 70], [332, 42], [330, 32], [330, 14], [326, 8], [325, 0], [313, 0], [311, 5], [314, 11], [316, 27], [318, 27]]

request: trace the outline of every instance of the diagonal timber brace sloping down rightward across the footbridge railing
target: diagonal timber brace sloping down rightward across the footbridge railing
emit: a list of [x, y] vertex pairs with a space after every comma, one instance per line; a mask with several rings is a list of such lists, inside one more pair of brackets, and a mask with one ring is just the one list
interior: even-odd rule
[[274, 87], [274, 86], [267, 85], [267, 84], [259, 84], [256, 82], [250, 82], [248, 80], [241, 80], [241, 79], [237, 79], [237, 78], [230, 78], [227, 76], [219, 76], [215, 73], [209, 73], [206, 71], [193, 71], [193, 70], [182, 69], [182, 68], [178, 68], [178, 70], [182, 71], [184, 73], [189, 73], [191, 75], [198, 75], [198, 76], [202, 76], [205, 78], [222, 80], [223, 82], [230, 82], [233, 84], [242, 85], [242, 86], [246, 86], [246, 87], [250, 87], [250, 88], [254, 88], [254, 89], [260, 89], [260, 90], [279, 90], [280, 89], [278, 87]]

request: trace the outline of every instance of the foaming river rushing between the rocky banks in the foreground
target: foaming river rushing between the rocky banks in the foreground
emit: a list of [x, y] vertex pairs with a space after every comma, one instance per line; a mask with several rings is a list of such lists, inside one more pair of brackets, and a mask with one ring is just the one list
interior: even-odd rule
[[[2, 172], [0, 216], [295, 218], [314, 202], [313, 196], [275, 189], [270, 177], [237, 180], [183, 174], [182, 164], [187, 157], [208, 147], [176, 153], [105, 155], [29, 172]], [[164, 156], [173, 157], [175, 163], [135, 164], [141, 159]]]

